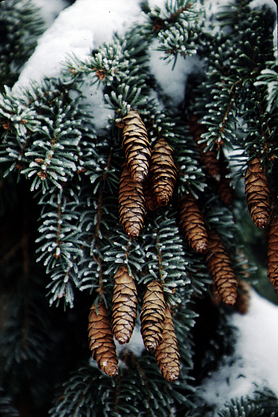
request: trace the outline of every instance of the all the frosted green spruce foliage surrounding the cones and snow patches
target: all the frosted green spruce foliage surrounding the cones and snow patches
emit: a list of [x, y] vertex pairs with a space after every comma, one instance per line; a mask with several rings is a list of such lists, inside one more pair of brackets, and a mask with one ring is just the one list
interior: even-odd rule
[[[48, 410], [53, 417], [212, 415], [199, 406], [197, 372], [200, 361], [211, 369], [217, 357], [211, 340], [228, 346], [232, 332], [223, 316], [238, 306], [223, 306], [215, 295], [206, 256], [196, 253], [181, 232], [178, 204], [186, 194], [196, 199], [204, 227], [218, 233], [227, 251], [240, 298], [240, 283], [254, 282], [246, 230], [265, 243], [263, 232], [246, 216], [244, 177], [253, 158], [265, 169], [271, 213], [277, 211], [273, 11], [234, 0], [208, 17], [197, 1], [169, 0], [163, 9], [142, 2], [144, 23], [131, 26], [123, 37], [114, 34], [83, 61], [69, 57], [58, 78], [30, 83], [18, 93], [12, 86], [42, 22], [31, 2], [12, 3], [0, 3], [3, 18], [8, 16], [0, 49], [3, 415], [8, 409], [17, 415], [14, 404], [21, 413], [28, 408], [30, 416]], [[24, 24], [14, 31], [18, 16]], [[200, 62], [180, 86], [185, 95], [179, 106], [151, 72], [154, 48], [172, 65], [173, 77], [177, 62]], [[96, 88], [113, 114], [101, 128], [89, 100]], [[146, 127], [150, 147], [164, 138], [177, 169], [170, 203], [146, 210], [135, 238], [123, 230], [118, 208], [123, 127], [133, 110]], [[208, 155], [208, 164], [219, 169], [215, 176], [204, 162]], [[227, 203], [223, 190], [234, 200]], [[138, 312], [147, 285], [158, 280], [163, 287], [181, 356], [180, 377], [173, 383], [163, 379], [154, 355], [143, 347], [138, 351], [132, 342], [117, 347], [114, 378], [90, 360], [90, 306], [102, 301], [111, 316], [114, 275], [122, 264], [134, 277]], [[260, 281], [267, 280], [263, 275], [265, 269], [259, 290], [265, 285]], [[205, 353], [194, 325], [198, 329], [208, 305], [222, 330], [219, 339], [209, 335]], [[136, 334], [139, 328], [138, 314]], [[261, 400], [236, 399], [219, 416], [262, 415]], [[275, 396], [271, 401], [269, 415], [277, 408]]]

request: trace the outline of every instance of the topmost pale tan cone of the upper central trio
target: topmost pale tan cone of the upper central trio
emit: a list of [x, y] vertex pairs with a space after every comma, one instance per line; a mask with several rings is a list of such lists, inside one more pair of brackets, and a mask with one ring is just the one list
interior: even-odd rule
[[149, 172], [151, 147], [146, 127], [135, 110], [123, 118], [123, 142], [127, 167], [134, 181], [142, 182]]

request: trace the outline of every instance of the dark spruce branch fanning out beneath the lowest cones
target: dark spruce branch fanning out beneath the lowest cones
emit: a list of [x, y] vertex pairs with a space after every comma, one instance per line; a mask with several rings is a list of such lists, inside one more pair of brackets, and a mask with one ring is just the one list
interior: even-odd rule
[[[55, 407], [56, 416], [164, 416], [174, 411], [175, 405], [192, 403], [185, 393], [193, 395], [186, 378], [170, 384], [163, 380], [154, 358], [144, 355], [137, 358], [128, 350], [116, 379], [102, 374], [93, 366], [83, 366], [64, 384]], [[92, 395], [94, 393], [94, 395]]]

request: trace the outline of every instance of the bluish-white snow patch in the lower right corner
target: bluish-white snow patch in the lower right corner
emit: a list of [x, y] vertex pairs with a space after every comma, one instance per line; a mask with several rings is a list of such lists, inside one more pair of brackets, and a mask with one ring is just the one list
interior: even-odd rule
[[264, 387], [278, 396], [278, 306], [252, 290], [247, 314], [235, 313], [229, 323], [237, 328], [234, 354], [201, 386], [202, 397], [216, 410]]

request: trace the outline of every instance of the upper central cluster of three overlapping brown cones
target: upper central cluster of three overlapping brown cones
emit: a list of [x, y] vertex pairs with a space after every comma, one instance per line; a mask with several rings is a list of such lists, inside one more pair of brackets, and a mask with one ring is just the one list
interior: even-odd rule
[[177, 169], [166, 139], [158, 138], [151, 149], [146, 127], [136, 111], [130, 111], [123, 123], [125, 163], [119, 186], [119, 216], [125, 232], [137, 237], [146, 209], [155, 210], [171, 200]]

